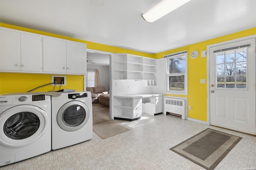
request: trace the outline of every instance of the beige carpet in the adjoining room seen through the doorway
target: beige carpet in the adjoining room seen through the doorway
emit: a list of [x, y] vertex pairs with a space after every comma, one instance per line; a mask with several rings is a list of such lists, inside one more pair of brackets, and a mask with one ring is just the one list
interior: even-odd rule
[[109, 107], [102, 104], [92, 104], [92, 124], [112, 120], [109, 117]]

